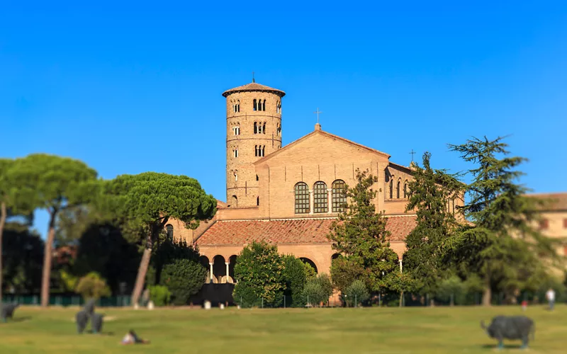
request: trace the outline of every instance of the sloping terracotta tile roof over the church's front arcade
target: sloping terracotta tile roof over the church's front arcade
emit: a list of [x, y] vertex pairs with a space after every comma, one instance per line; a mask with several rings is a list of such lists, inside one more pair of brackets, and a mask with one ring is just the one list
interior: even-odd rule
[[[415, 216], [388, 217], [386, 229], [391, 241], [403, 241], [415, 227]], [[270, 244], [327, 243], [327, 234], [335, 219], [286, 219], [218, 221], [197, 239], [199, 245], [249, 244], [266, 241]]]

